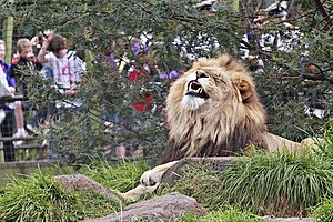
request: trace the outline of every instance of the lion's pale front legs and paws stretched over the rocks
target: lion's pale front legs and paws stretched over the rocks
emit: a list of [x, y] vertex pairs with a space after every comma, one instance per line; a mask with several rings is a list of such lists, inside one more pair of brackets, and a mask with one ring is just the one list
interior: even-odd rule
[[160, 184], [163, 174], [176, 163], [178, 161], [172, 161], [162, 165], [158, 165], [152, 170], [145, 171], [140, 179], [140, 185], [123, 193], [122, 196], [125, 200], [138, 200], [144, 193], [153, 192]]

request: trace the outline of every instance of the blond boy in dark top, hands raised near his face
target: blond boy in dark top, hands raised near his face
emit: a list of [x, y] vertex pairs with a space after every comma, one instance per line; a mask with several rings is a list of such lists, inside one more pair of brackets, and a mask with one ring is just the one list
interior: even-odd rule
[[[17, 82], [17, 93], [22, 94], [24, 98], [27, 93], [27, 82], [24, 75], [28, 72], [34, 74], [36, 71], [41, 70], [42, 65], [36, 60], [32, 51], [32, 43], [29, 39], [19, 39], [17, 43], [17, 54], [13, 56], [12, 63], [9, 70], [9, 75], [16, 78]], [[28, 73], [29, 74], [29, 73]], [[30, 109], [31, 103], [21, 101], [16, 101], [16, 122], [17, 122], [17, 133], [13, 134], [14, 138], [26, 138], [29, 133], [24, 129], [24, 113], [23, 109]], [[14, 141], [14, 145], [22, 144], [22, 140]]]

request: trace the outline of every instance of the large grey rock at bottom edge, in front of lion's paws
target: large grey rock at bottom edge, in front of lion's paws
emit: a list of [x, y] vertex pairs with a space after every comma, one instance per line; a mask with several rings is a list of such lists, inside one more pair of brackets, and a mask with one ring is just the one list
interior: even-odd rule
[[135, 221], [135, 219], [142, 219], [143, 221], [172, 221], [174, 218], [183, 216], [188, 212], [202, 215], [206, 211], [195, 199], [173, 192], [131, 204], [125, 206], [122, 212], [99, 219], [88, 219], [84, 222]]

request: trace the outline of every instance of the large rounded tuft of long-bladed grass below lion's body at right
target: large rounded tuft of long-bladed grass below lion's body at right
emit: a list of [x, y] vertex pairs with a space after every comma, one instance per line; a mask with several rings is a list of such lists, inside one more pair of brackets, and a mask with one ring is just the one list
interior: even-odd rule
[[311, 153], [256, 154], [221, 173], [221, 192], [255, 213], [295, 215], [331, 196], [332, 179], [331, 163]]

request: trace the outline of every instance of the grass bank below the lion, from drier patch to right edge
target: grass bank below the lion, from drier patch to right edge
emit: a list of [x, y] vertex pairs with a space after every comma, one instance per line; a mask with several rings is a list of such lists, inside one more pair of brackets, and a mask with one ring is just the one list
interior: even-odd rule
[[195, 165], [172, 190], [195, 198], [210, 210], [232, 204], [256, 214], [306, 214], [333, 194], [332, 159], [319, 153], [255, 153], [220, 173], [212, 167]]

